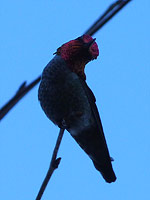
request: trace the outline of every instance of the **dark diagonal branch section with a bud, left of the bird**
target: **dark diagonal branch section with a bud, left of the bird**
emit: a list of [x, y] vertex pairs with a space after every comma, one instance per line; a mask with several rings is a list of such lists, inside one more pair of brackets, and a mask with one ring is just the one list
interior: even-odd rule
[[26, 95], [34, 86], [39, 83], [41, 76], [32, 81], [29, 85], [26, 86], [26, 82], [23, 82], [19, 87], [16, 94], [0, 109], [0, 120]]

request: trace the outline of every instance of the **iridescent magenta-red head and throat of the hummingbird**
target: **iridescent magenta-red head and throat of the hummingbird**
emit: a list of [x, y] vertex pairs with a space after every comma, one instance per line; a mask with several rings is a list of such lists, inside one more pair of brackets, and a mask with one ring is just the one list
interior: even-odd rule
[[95, 39], [90, 35], [83, 35], [63, 44], [55, 54], [66, 61], [71, 71], [86, 79], [85, 65], [98, 57], [99, 49]]

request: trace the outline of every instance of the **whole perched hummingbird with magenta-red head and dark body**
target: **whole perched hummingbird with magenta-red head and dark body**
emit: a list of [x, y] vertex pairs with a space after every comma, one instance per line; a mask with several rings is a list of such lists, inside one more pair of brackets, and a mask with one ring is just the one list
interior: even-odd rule
[[55, 53], [42, 73], [38, 98], [47, 117], [70, 132], [106, 182], [116, 180], [96, 99], [86, 83], [85, 65], [97, 58], [95, 39], [83, 35]]

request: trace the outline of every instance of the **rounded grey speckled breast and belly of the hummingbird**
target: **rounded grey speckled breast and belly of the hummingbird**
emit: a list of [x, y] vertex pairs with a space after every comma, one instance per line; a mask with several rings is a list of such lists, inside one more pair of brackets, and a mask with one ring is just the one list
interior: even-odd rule
[[45, 67], [38, 96], [48, 118], [57, 125], [65, 120], [72, 135], [91, 125], [91, 109], [79, 77], [60, 56]]

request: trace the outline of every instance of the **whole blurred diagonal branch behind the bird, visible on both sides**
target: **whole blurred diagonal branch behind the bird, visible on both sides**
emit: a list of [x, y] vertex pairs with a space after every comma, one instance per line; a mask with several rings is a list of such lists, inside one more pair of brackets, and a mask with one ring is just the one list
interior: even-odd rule
[[[127, 3], [129, 3], [131, 0], [122, 0], [122, 1], [116, 1], [113, 3], [106, 12], [85, 32], [89, 35], [94, 35], [104, 24], [106, 24], [116, 13], [118, 13]], [[17, 92], [17, 94], [11, 98], [8, 103], [6, 103], [1, 109], [0, 109], [0, 120], [16, 105], [17, 102], [19, 102], [22, 97], [27, 94], [34, 86], [36, 86], [37, 83], [39, 83], [41, 77], [38, 77], [36, 80], [34, 80], [30, 85], [25, 86], [25, 82], [22, 84], [22, 88], [20, 92]]]

